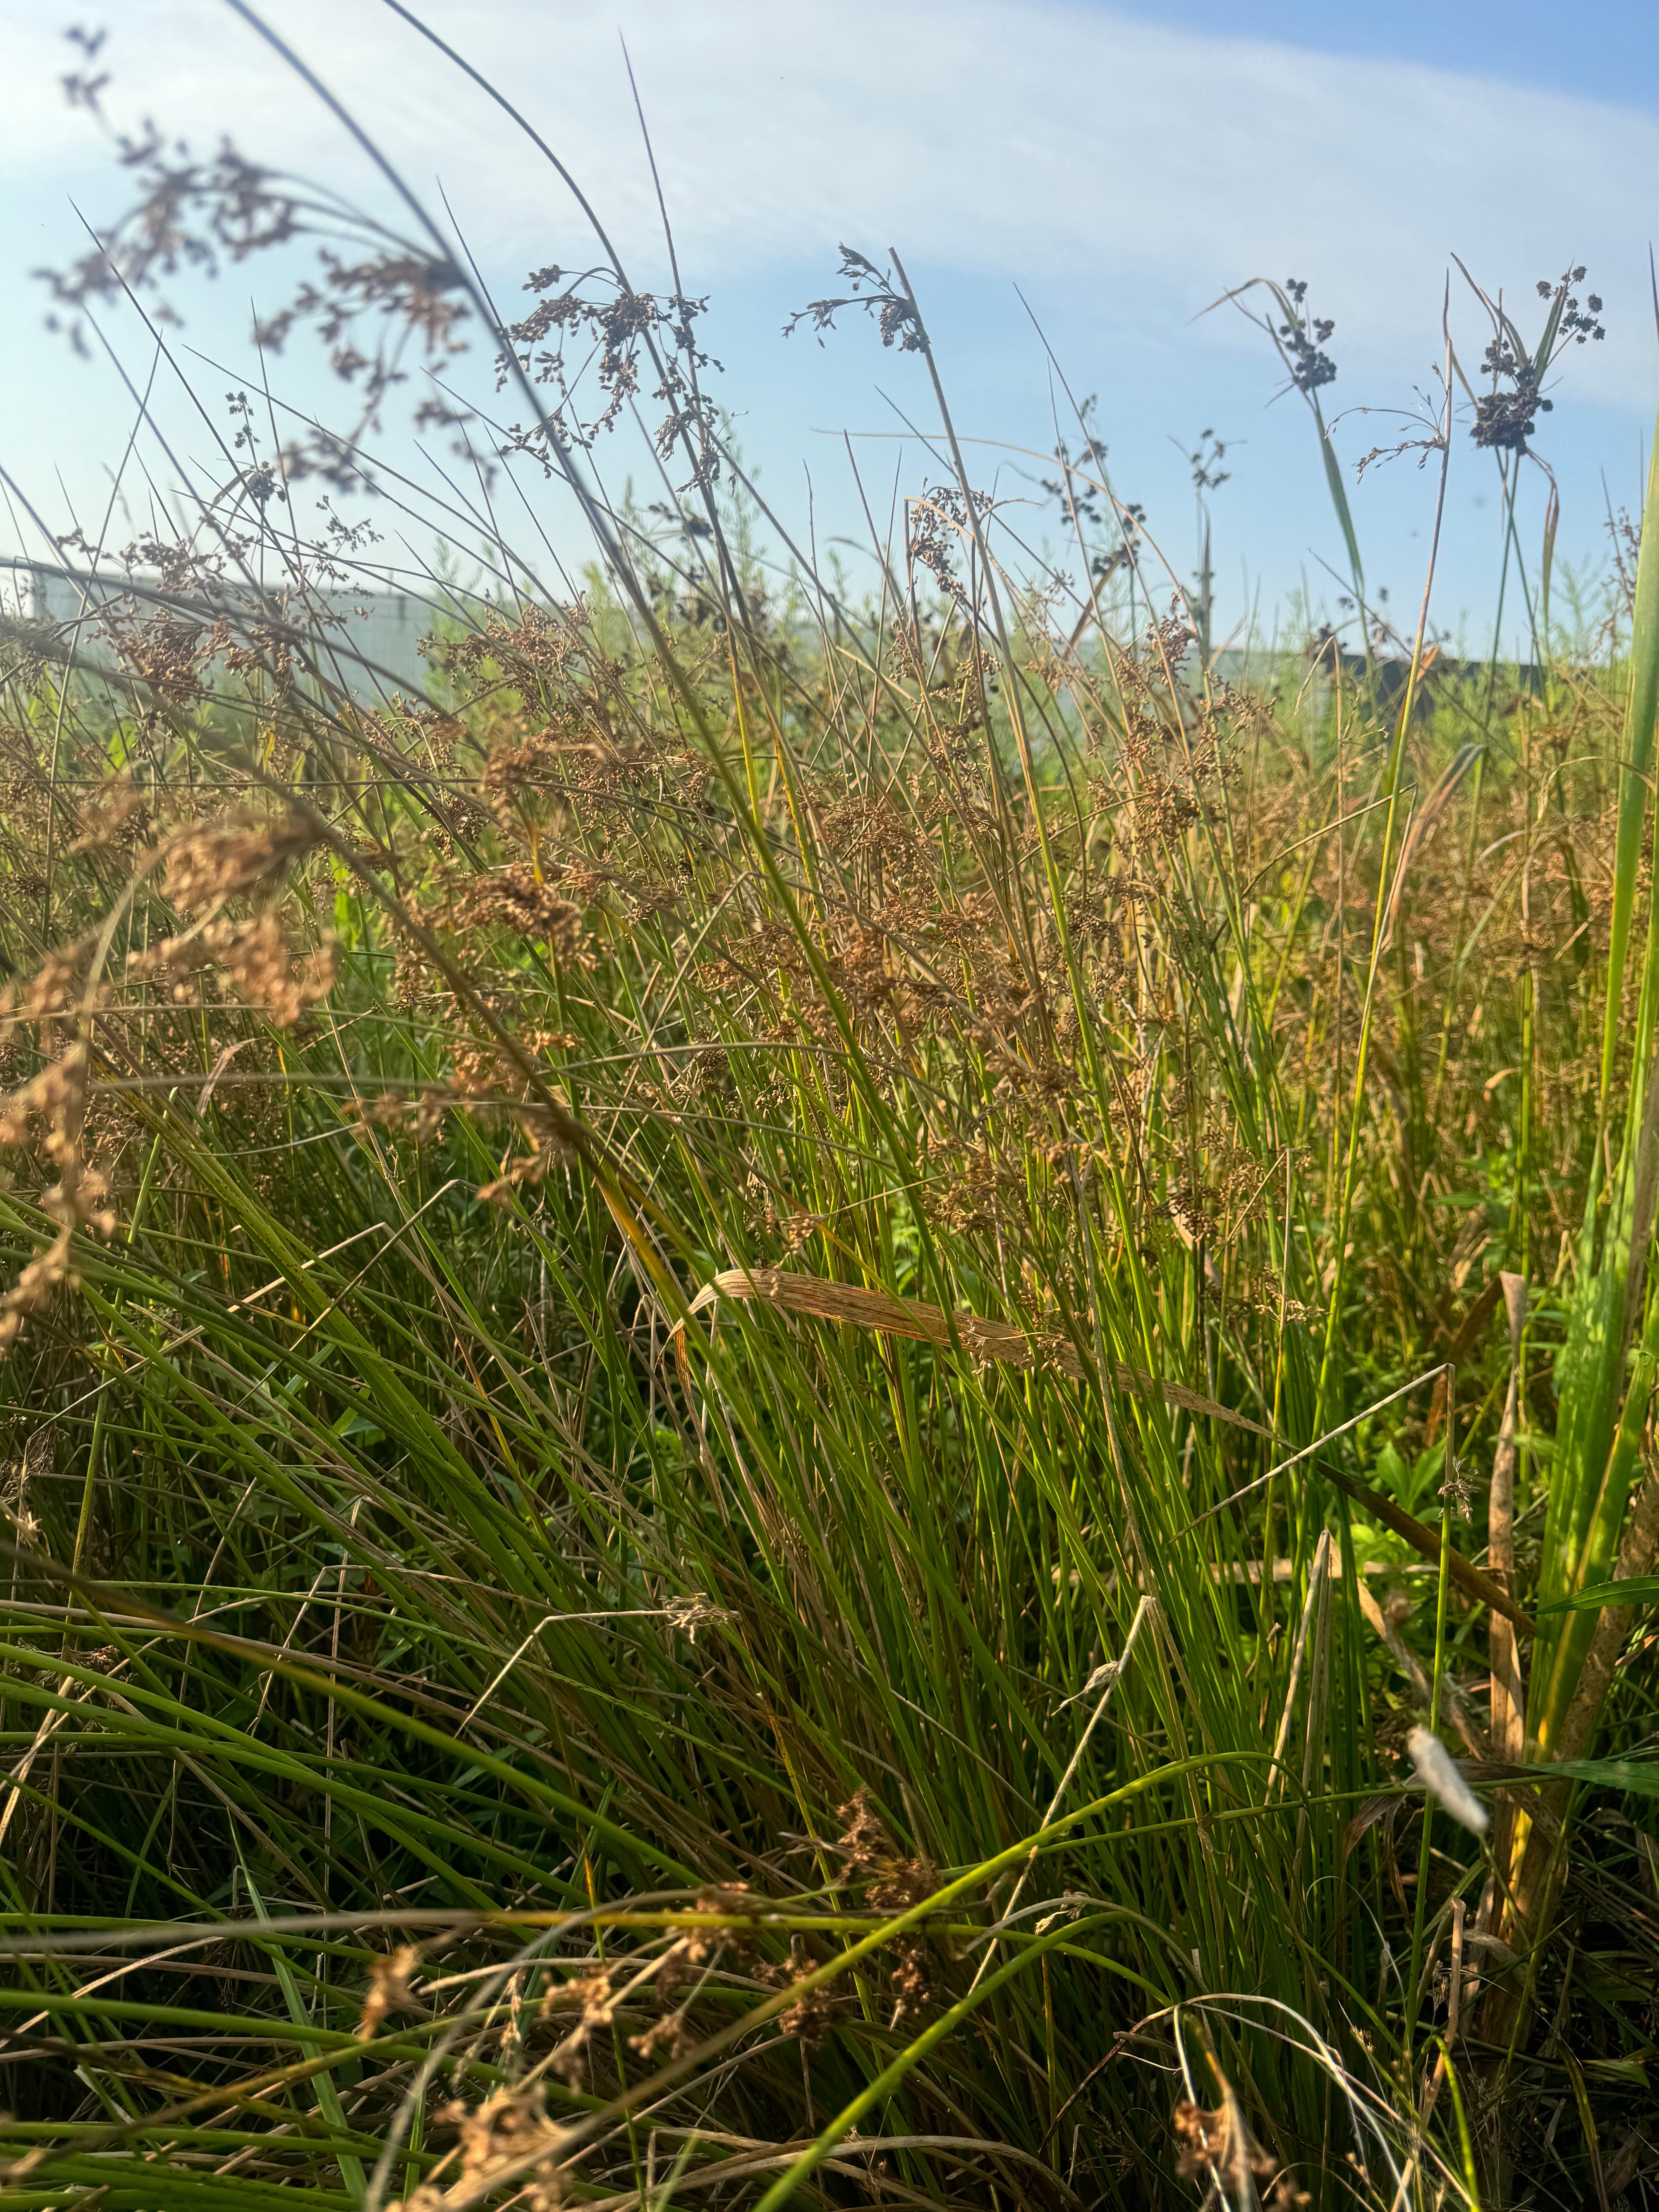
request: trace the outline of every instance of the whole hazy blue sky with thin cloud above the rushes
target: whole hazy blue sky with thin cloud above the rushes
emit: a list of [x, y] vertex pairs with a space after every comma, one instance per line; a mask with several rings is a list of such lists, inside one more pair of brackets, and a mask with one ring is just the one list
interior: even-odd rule
[[[533, 263], [586, 257], [568, 199], [533, 153], [378, 0], [268, 0], [265, 11], [422, 190], [442, 181], [504, 292]], [[860, 526], [843, 431], [883, 511], [894, 487], [918, 491], [936, 473], [900, 436], [905, 416], [933, 420], [914, 358], [883, 354], [858, 323], [825, 349], [781, 338], [783, 316], [832, 288], [838, 239], [905, 254], [958, 422], [984, 440], [978, 467], [1006, 495], [1037, 498], [1035, 462], [1011, 449], [1053, 442], [1044, 338], [1073, 389], [1099, 394], [1119, 495], [1146, 504], [1183, 571], [1194, 557], [1183, 451], [1206, 427], [1225, 438], [1214, 560], [1230, 619], [1252, 604], [1270, 613], [1298, 588], [1332, 602], [1329, 571], [1343, 564], [1307, 422], [1294, 400], [1274, 403], [1265, 343], [1225, 310], [1201, 314], [1254, 274], [1305, 276], [1336, 321], [1340, 374], [1327, 398], [1343, 414], [1352, 480], [1352, 462], [1391, 436], [1391, 416], [1358, 409], [1409, 407], [1431, 374], [1449, 272], [1458, 345], [1478, 363], [1484, 334], [1451, 252], [1502, 285], [1524, 325], [1537, 276], [1588, 263], [1608, 338], [1562, 365], [1540, 436], [1562, 489], [1562, 555], [1593, 573], [1608, 500], [1639, 500], [1659, 396], [1646, 263], [1659, 234], [1659, 9], [429, 0], [425, 13], [502, 75], [641, 281], [659, 283], [626, 33], [686, 283], [712, 294], [721, 398], [770, 495], [794, 529], [810, 518], [821, 542]], [[29, 296], [27, 272], [80, 246], [73, 206], [93, 221], [119, 206], [106, 148], [58, 93], [73, 22], [108, 22], [106, 100], [122, 122], [155, 115], [201, 146], [228, 128], [254, 157], [376, 195], [338, 131], [219, 0], [122, 0], [104, 15], [88, 0], [40, 0], [13, 18], [0, 84], [0, 296], [11, 307], [0, 458], [53, 526], [71, 511], [100, 520], [131, 429], [119, 380], [71, 361]], [[186, 338], [241, 383], [257, 374], [248, 285], [272, 305], [274, 274], [177, 292]], [[142, 332], [117, 316], [111, 338], [142, 380]], [[281, 374], [301, 403], [325, 403], [303, 356]], [[228, 378], [199, 376], [221, 405]], [[482, 363], [476, 383], [487, 396]], [[166, 372], [157, 411], [177, 456], [206, 467], [210, 440]], [[153, 451], [137, 460], [150, 489], [133, 465], [128, 520], [148, 526], [148, 500], [166, 502], [175, 482]], [[624, 456], [606, 467], [619, 473]], [[1486, 456], [1460, 438], [1436, 615], [1462, 624], [1471, 646], [1493, 611], [1493, 489]], [[1531, 542], [1542, 498], [1542, 471], [1528, 471]], [[1371, 471], [1354, 500], [1367, 577], [1402, 615], [1420, 593], [1433, 484], [1407, 460]], [[546, 509], [542, 522], [555, 544], [573, 544], [568, 518]], [[1022, 522], [1035, 535], [1048, 526], [1037, 504]]]

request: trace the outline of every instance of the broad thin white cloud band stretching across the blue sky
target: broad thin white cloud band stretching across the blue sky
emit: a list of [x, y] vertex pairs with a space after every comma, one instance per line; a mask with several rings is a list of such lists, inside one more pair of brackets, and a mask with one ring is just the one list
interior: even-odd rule
[[[692, 285], [779, 263], [827, 270], [843, 237], [1102, 299], [1119, 281], [1137, 301], [1150, 285], [1181, 312], [1256, 270], [1294, 270], [1316, 279], [1349, 352], [1409, 352], [1418, 365], [1451, 250], [1511, 296], [1588, 261], [1613, 332], [1584, 363], [1586, 389], [1621, 403], [1652, 383], [1659, 122], [1637, 111], [1066, 0], [425, 0], [422, 11], [531, 115], [624, 252], [655, 270], [626, 35]], [[80, 13], [82, 0], [49, 0], [9, 29], [0, 170], [13, 186], [49, 188], [88, 166], [86, 122], [53, 84], [62, 29]], [[557, 179], [378, 0], [268, 0], [265, 13], [418, 188], [442, 175], [491, 261], [582, 254]], [[230, 128], [283, 166], [354, 173], [338, 128], [221, 0], [126, 0], [106, 60], [124, 117], [153, 113], [197, 144]]]

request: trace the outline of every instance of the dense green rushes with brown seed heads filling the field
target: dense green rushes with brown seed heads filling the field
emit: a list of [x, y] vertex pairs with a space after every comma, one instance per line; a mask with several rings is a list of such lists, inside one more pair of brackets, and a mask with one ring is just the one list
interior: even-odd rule
[[1655, 533], [1544, 699], [1230, 688], [1084, 420], [1015, 557], [898, 263], [812, 312], [953, 471], [854, 597], [692, 303], [361, 237], [599, 566], [418, 507], [489, 593], [365, 703], [281, 487], [372, 427], [246, 409], [7, 628], [0, 2212], [1639, 2188], [1652, 1668], [1540, 1608], [1655, 1522]]

